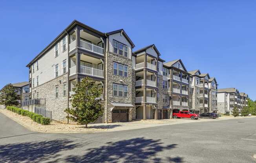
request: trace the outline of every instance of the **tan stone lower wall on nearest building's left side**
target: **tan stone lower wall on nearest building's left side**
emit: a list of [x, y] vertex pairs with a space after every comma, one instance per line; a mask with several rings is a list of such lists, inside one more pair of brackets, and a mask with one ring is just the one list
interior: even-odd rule
[[[46, 99], [46, 110], [52, 112], [52, 119], [63, 122], [67, 120], [64, 110], [68, 108], [68, 89], [67, 96], [63, 96], [63, 83], [65, 82], [68, 85], [67, 73], [32, 89], [32, 94], [38, 92], [39, 98]], [[56, 86], [59, 86], [59, 98], [55, 98]]]

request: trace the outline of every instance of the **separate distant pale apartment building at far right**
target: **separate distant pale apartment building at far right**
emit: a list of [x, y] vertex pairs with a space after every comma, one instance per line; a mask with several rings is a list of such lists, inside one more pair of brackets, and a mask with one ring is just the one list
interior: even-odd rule
[[[242, 95], [242, 96], [241, 96]], [[239, 112], [247, 106], [248, 95], [241, 93], [236, 88], [218, 89], [218, 110], [221, 113], [232, 113], [234, 107]]]

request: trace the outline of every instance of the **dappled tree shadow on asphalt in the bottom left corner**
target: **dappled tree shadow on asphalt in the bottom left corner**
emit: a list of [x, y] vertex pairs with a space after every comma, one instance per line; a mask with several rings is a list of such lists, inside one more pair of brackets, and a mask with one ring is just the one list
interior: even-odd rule
[[34, 141], [0, 145], [0, 162], [40, 162], [61, 156], [60, 151], [82, 147], [84, 144], [73, 143], [68, 139]]

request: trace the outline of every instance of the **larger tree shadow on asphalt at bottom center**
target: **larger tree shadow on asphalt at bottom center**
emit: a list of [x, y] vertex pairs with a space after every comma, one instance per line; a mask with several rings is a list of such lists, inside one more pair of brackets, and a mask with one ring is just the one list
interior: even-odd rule
[[[137, 163], [137, 162], [183, 162], [183, 158], [170, 158], [168, 156], [158, 156], [157, 153], [163, 150], [176, 148], [176, 144], [163, 146], [160, 139], [134, 138], [117, 142], [108, 142], [98, 148], [88, 149], [83, 156], [70, 155], [64, 162], [108, 162], [108, 163]], [[166, 153], [166, 152], [165, 152]], [[168, 153], [168, 152], [167, 152]], [[60, 160], [55, 160], [55, 162]]]

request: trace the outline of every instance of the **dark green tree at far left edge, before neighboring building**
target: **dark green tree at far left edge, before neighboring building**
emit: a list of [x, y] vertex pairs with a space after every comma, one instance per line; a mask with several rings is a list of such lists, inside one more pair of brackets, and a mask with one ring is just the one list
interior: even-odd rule
[[11, 83], [5, 85], [0, 92], [0, 105], [17, 106], [19, 104], [20, 96], [17, 95], [17, 90]]

